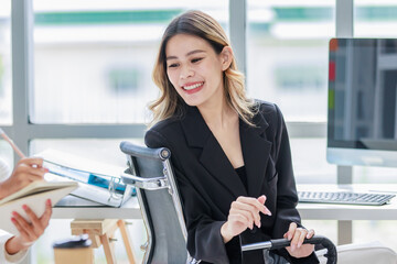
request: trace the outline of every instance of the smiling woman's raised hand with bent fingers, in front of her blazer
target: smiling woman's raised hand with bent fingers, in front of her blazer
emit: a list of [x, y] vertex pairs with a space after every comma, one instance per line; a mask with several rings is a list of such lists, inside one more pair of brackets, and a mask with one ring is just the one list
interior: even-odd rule
[[259, 212], [271, 216], [271, 212], [265, 206], [265, 201], [266, 196], [260, 196], [257, 199], [240, 196], [232, 202], [227, 221], [221, 228], [221, 234], [225, 243], [247, 228], [253, 229], [254, 224], [260, 228]]

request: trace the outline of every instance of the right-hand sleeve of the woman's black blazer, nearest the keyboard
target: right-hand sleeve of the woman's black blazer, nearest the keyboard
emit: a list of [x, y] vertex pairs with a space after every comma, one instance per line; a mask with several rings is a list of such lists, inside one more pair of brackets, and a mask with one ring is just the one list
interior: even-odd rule
[[[278, 116], [278, 124], [275, 139], [277, 146], [276, 168], [279, 174], [279, 178], [277, 183], [277, 219], [275, 221], [275, 227], [272, 230], [272, 238], [282, 238], [283, 234], [288, 231], [291, 222], [296, 222], [298, 227], [302, 226], [301, 218], [297, 209], [298, 194], [293, 176], [291, 148], [287, 127], [282, 113], [277, 106], [276, 112]], [[292, 257], [285, 249], [280, 250], [279, 253], [293, 264], [319, 263], [319, 260], [314, 252], [311, 255], [302, 258]]]

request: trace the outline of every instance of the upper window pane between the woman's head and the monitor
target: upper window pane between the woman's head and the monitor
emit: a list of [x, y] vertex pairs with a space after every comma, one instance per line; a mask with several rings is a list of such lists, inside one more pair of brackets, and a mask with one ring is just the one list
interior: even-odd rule
[[325, 121], [335, 1], [248, 0], [247, 86], [287, 121]]

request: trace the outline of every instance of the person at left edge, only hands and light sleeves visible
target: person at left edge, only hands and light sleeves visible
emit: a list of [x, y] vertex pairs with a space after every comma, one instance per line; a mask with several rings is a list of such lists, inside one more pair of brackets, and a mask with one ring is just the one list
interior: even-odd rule
[[[0, 183], [0, 199], [18, 191], [34, 180], [43, 179], [44, 174], [49, 170], [42, 167], [42, 158], [22, 158], [9, 178], [6, 180], [0, 178], [0, 182], [3, 180]], [[2, 168], [4, 169], [4, 167]], [[0, 175], [3, 174], [0, 172]], [[45, 212], [40, 218], [28, 206], [24, 206], [23, 210], [31, 222], [28, 222], [18, 212], [13, 212], [11, 220], [20, 234], [0, 234], [0, 263], [19, 263], [22, 261], [26, 255], [28, 249], [44, 233], [45, 228], [49, 226], [52, 215], [51, 200], [46, 201]]]

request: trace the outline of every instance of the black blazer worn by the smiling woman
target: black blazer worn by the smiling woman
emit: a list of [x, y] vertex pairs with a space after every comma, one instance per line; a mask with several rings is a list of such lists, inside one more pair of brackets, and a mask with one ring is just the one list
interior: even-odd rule
[[[291, 222], [300, 224], [282, 114], [273, 103], [258, 102], [258, 107], [255, 128], [239, 120], [248, 189], [197, 108], [185, 106], [182, 117], [163, 120], [146, 133], [149, 147], [167, 146], [171, 151], [186, 221], [187, 250], [202, 263], [264, 263], [262, 251], [242, 254], [240, 245], [282, 238]], [[227, 220], [230, 204], [239, 196], [261, 195], [267, 197], [265, 205], [272, 216], [261, 215], [260, 229], [247, 229], [225, 244], [221, 227]], [[302, 261], [290, 258], [286, 250], [279, 253], [292, 263]]]

